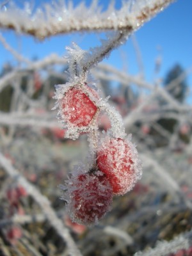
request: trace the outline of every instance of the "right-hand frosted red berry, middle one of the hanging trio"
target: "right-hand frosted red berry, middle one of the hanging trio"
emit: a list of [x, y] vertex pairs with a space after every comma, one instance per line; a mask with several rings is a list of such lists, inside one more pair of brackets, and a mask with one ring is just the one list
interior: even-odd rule
[[138, 152], [130, 140], [107, 136], [97, 151], [97, 165], [116, 195], [130, 191], [141, 177]]

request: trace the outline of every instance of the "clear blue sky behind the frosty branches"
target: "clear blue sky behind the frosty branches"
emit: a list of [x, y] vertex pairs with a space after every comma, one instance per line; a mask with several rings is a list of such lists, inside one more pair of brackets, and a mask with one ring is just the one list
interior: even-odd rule
[[[0, 0], [1, 3], [2, 0]], [[74, 0], [78, 4], [80, 0]], [[22, 5], [24, 1], [15, 0], [16, 4]], [[47, 3], [47, 1], [34, 0], [35, 6]], [[90, 0], [86, 1], [90, 4]], [[104, 8], [109, 1], [99, 1]], [[116, 1], [119, 8], [120, 1]], [[51, 52], [60, 56], [65, 55], [65, 47], [76, 42], [83, 49], [89, 49], [99, 45], [100, 33], [73, 33], [64, 36], [55, 36], [43, 42], [35, 40], [32, 36], [15, 35], [13, 31], [3, 31], [3, 35], [10, 45], [28, 58], [34, 56], [44, 58]], [[180, 63], [183, 68], [192, 67], [192, 1], [178, 0], [171, 6], [159, 13], [154, 19], [147, 22], [135, 33], [136, 40], [140, 47], [145, 77], [148, 82], [154, 79], [154, 67], [156, 58], [161, 56], [161, 70], [158, 74], [164, 77], [168, 70]], [[14, 63], [13, 57], [0, 44], [0, 68], [3, 63], [10, 61]], [[129, 39], [126, 44], [113, 51], [107, 60], [104, 60], [119, 70], [126, 70], [129, 74], [138, 73], [136, 52]], [[192, 76], [188, 76], [188, 84], [192, 87]]]

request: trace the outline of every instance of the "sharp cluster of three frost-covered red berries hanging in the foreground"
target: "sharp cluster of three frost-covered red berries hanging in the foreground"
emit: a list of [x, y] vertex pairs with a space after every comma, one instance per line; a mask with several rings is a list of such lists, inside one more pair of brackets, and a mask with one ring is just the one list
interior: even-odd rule
[[[109, 211], [113, 195], [124, 195], [134, 187], [141, 177], [141, 163], [131, 136], [124, 132], [121, 116], [88, 82], [88, 70], [83, 72], [80, 63], [78, 67], [77, 59], [83, 60], [83, 55], [77, 58], [76, 52], [75, 57], [73, 63], [69, 61], [70, 81], [56, 87], [54, 98], [65, 138], [88, 134], [91, 163], [73, 172], [61, 188], [72, 221], [92, 225]], [[103, 115], [111, 124], [101, 134], [99, 119]]]

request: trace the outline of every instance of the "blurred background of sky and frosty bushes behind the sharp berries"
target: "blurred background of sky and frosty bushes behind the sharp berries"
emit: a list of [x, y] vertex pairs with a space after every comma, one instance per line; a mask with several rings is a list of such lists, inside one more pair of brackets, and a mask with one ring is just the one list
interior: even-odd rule
[[[67, 1], [73, 8], [80, 2]], [[1, 11], [12, 4], [35, 13], [54, 1], [0, 1]], [[109, 4], [98, 1], [102, 12]], [[116, 10], [121, 6], [115, 2]], [[45, 197], [83, 255], [134, 255], [179, 235], [183, 246], [173, 252], [163, 244], [162, 254], [154, 255], [192, 255], [191, 10], [191, 1], [175, 1], [92, 69], [100, 97], [111, 95], [109, 103], [122, 115], [143, 163], [142, 179], [114, 198], [95, 227], [72, 223], [60, 200], [58, 185], [84, 161], [88, 142], [86, 134], [76, 141], [64, 138], [52, 97], [55, 84], [67, 82], [65, 47], [76, 42], [88, 50], [106, 34], [37, 40], [1, 29], [0, 255], [68, 255], [67, 243], [45, 214]], [[99, 131], [110, 127], [102, 113]]]

